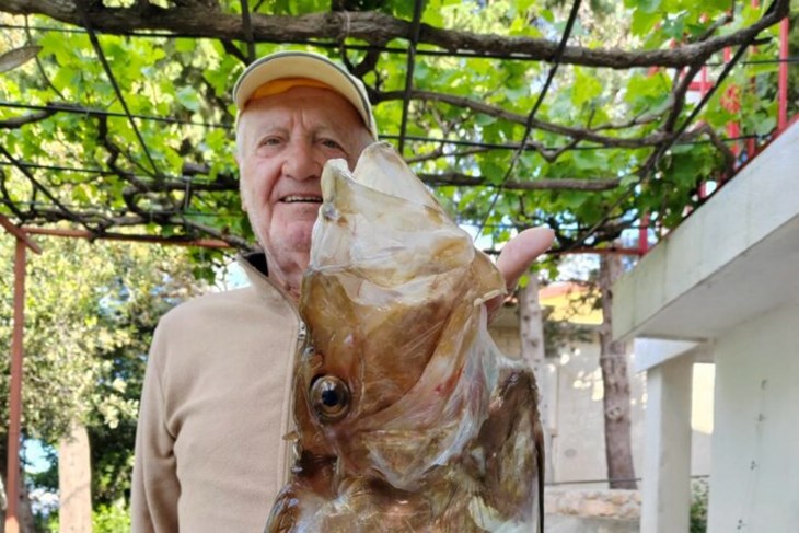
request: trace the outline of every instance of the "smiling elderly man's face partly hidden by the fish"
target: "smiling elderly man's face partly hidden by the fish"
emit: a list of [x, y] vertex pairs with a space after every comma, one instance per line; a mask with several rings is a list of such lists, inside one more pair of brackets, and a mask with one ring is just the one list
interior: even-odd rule
[[274, 266], [308, 265], [325, 162], [345, 159], [352, 169], [369, 142], [355, 107], [333, 91], [298, 86], [247, 105], [239, 123], [242, 199]]

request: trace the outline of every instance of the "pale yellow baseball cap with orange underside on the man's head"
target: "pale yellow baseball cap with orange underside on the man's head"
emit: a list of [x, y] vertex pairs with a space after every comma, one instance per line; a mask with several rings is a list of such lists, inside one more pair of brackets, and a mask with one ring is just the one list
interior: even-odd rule
[[356, 108], [372, 137], [378, 127], [361, 81], [325, 56], [311, 51], [278, 51], [250, 65], [233, 86], [233, 102], [241, 114], [254, 99], [279, 94], [292, 86], [321, 86], [337, 92]]

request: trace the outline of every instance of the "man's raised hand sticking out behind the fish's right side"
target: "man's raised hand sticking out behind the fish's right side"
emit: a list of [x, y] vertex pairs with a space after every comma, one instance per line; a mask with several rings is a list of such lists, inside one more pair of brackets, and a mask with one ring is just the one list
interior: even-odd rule
[[[508, 293], [513, 292], [519, 278], [528, 271], [535, 258], [546, 252], [555, 239], [555, 232], [549, 228], [530, 228], [508, 241], [497, 257], [497, 268], [505, 278]], [[488, 322], [502, 305], [505, 296], [500, 294], [486, 302]]]

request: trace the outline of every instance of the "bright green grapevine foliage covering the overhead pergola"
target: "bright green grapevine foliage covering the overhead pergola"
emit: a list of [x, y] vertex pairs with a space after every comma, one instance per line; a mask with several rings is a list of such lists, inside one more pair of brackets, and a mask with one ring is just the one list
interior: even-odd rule
[[[175, 9], [186, 3], [175, 2]], [[510, 39], [557, 43], [569, 4], [431, 0], [424, 2], [420, 22], [426, 28], [471, 32], [500, 44]], [[204, 5], [197, 2], [196, 7], [201, 11]], [[241, 5], [221, 1], [215, 13], [238, 16]], [[299, 21], [331, 8], [334, 13], [355, 10], [355, 14], [373, 10], [405, 21], [414, 14], [413, 3], [402, 1], [270, 0], [256, 4], [253, 19], [266, 22], [286, 15], [289, 19], [281, 21], [287, 25], [290, 18]], [[765, 7], [752, 2], [734, 2], [733, 11], [729, 9], [729, 1], [715, 0], [584, 2], [569, 45], [607, 54], [687, 49], [744, 30], [765, 13]], [[0, 101], [38, 106], [66, 102], [78, 106], [79, 113], [58, 112], [0, 129], [0, 144], [21, 162], [99, 171], [44, 173], [28, 166], [40, 188], [20, 169], [0, 167], [3, 179], [15, 187], [0, 204], [1, 213], [47, 223], [65, 218], [66, 207], [99, 233], [124, 229], [170, 239], [210, 234], [238, 246], [252, 243], [238, 200], [234, 109], [229, 95], [247, 61], [246, 43], [227, 36], [101, 33], [97, 42], [121, 91], [120, 100], [86, 33], [65, 33], [74, 26], [42, 15], [2, 16], [28, 28], [5, 32], [1, 49], [27, 43], [43, 49], [37, 61], [2, 74]], [[334, 24], [336, 19], [327, 22]], [[254, 51], [259, 56], [301, 48], [345, 58], [372, 91], [382, 132], [396, 141], [408, 70], [408, 58], [396, 50], [407, 47], [407, 39], [368, 40], [372, 48], [364, 47], [364, 39], [379, 39], [380, 30], [338, 40], [296, 37], [300, 42], [291, 45], [256, 39]], [[207, 31], [213, 35], [212, 28]], [[422, 37], [428, 35], [433, 33]], [[729, 123], [739, 123], [742, 136], [760, 140], [774, 128], [776, 63], [767, 61], [776, 57], [775, 35], [776, 26], [761, 32], [762, 40], [743, 56], [751, 61], [739, 63], [695, 117], [696, 100], [685, 100], [678, 90], [686, 68], [609, 69], [567, 61], [536, 111], [530, 149], [521, 154], [513, 147], [526, 131], [524, 123], [553, 66], [520, 55], [491, 54], [488, 45], [482, 54], [456, 54], [422, 38], [413, 66], [415, 92], [407, 105], [404, 152], [420, 175], [438, 183], [439, 197], [462, 222], [484, 225], [497, 242], [518, 228], [548, 224], [556, 229], [560, 248], [600, 246], [636, 228], [642, 213], [656, 227], [673, 228], [702, 201], [699, 185], [728, 173], [732, 149], [742, 149], [742, 143], [736, 147], [732, 140], [719, 140], [727, 136]], [[708, 80], [721, 76], [723, 50], [699, 60], [708, 63]], [[691, 73], [699, 78], [699, 70]], [[160, 119], [129, 120], [123, 102], [134, 115]], [[19, 108], [0, 105], [0, 120], [21, 116]], [[688, 121], [676, 143], [657, 141]], [[708, 129], [697, 128], [700, 124]], [[453, 174], [473, 178], [479, 186], [452, 185], [448, 176]], [[563, 183], [534, 190], [517, 186], [540, 185], [545, 179], [612, 184], [593, 192]]]

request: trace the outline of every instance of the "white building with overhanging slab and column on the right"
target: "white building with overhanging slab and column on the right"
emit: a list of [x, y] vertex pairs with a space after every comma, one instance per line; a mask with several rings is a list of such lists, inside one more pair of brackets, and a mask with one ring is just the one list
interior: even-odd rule
[[697, 362], [716, 367], [708, 532], [799, 531], [799, 124], [614, 297], [614, 336], [647, 375], [640, 531], [688, 531]]

